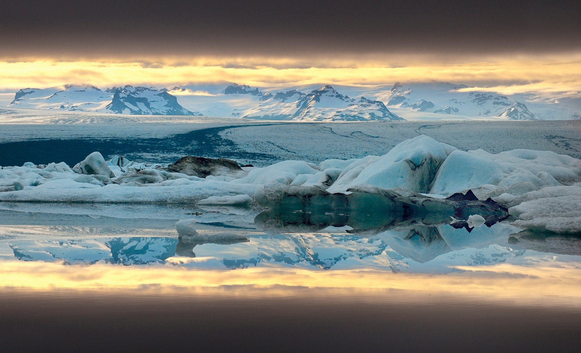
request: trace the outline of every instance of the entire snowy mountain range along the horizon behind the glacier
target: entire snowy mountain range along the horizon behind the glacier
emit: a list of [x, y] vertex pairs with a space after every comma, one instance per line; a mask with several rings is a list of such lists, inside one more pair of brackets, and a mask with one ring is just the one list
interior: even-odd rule
[[[283, 88], [250, 87], [229, 81], [162, 88], [125, 87], [102, 91], [93, 85], [67, 84], [16, 92], [14, 108], [85, 111], [127, 115], [241, 117], [305, 122], [494, 119], [580, 119], [581, 113], [557, 99], [539, 101], [474, 91], [467, 85], [429, 82], [392, 87], [331, 85]], [[307, 90], [307, 91], [305, 91]], [[179, 100], [179, 103], [178, 103]], [[405, 118], [405, 119], [404, 119]]]

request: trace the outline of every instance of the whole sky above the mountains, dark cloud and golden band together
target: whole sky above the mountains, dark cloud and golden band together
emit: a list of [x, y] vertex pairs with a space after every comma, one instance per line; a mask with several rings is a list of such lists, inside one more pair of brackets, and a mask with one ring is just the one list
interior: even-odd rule
[[3, 1], [0, 92], [450, 81], [579, 97], [578, 1]]

